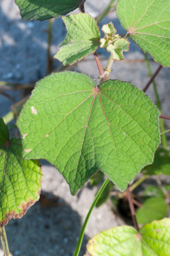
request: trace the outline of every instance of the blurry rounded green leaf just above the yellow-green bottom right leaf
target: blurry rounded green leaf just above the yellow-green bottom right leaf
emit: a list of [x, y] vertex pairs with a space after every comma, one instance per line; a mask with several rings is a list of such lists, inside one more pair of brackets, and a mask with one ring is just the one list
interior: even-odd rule
[[161, 197], [152, 197], [146, 199], [143, 206], [136, 212], [137, 222], [139, 224], [150, 223], [154, 220], [163, 219], [167, 217], [168, 206], [165, 199]]

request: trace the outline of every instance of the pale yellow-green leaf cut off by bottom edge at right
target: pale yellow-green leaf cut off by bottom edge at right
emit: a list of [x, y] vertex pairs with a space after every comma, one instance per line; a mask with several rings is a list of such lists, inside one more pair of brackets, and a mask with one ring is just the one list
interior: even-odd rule
[[90, 256], [169, 256], [170, 220], [153, 221], [139, 230], [114, 227], [89, 240]]

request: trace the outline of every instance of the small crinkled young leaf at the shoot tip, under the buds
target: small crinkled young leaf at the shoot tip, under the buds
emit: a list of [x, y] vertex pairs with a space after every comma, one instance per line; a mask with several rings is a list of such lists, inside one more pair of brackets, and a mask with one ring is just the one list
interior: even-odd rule
[[121, 61], [124, 59], [122, 52], [129, 51], [129, 44], [129, 41], [124, 38], [117, 39], [114, 44], [109, 44], [107, 46], [107, 51], [113, 54], [113, 59]]

